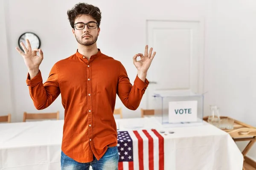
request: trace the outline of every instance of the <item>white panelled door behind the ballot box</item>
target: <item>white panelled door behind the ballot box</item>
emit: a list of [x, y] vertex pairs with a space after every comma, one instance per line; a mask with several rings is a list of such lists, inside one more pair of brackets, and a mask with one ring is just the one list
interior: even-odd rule
[[157, 52], [147, 75], [147, 109], [154, 108], [154, 93], [203, 93], [203, 28], [200, 21], [147, 20], [147, 44]]

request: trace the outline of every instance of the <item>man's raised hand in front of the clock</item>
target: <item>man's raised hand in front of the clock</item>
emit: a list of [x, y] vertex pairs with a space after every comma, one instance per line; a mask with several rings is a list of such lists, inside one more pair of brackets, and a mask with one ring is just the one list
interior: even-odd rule
[[[20, 53], [20, 55], [23, 57], [24, 62], [28, 68], [30, 79], [35, 77], [39, 73], [39, 65], [44, 59], [44, 54], [41, 49], [35, 48], [31, 49], [31, 45], [29, 40], [26, 39], [27, 47], [23, 44], [23, 42], [20, 42], [20, 45], [23, 48], [23, 51], [21, 51], [19, 48], [16, 47], [16, 50]], [[39, 56], [36, 55], [37, 52], [39, 52]]]

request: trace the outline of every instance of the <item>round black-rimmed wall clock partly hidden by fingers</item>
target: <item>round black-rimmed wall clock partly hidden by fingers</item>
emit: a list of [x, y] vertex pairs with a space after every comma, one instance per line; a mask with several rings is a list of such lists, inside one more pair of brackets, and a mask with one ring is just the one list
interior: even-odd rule
[[26, 39], [29, 40], [32, 50], [34, 48], [40, 48], [41, 42], [39, 37], [32, 32], [25, 32], [22, 35], [20, 35], [18, 44], [21, 50], [23, 50], [22, 46], [20, 45], [20, 42], [23, 42], [23, 44], [27, 47]]

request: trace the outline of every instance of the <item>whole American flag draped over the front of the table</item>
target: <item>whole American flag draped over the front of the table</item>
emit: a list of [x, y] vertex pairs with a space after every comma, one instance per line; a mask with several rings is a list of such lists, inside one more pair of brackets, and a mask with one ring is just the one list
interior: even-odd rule
[[163, 170], [163, 136], [157, 130], [118, 131], [118, 170]]

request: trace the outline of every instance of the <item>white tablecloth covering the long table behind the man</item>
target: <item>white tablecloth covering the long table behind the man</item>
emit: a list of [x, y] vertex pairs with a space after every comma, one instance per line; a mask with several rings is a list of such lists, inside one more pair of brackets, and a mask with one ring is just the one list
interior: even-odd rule
[[[119, 130], [164, 130], [165, 170], [241, 170], [243, 156], [224, 131], [204, 122], [163, 127], [151, 118], [116, 119]], [[0, 124], [0, 170], [60, 170], [63, 120]], [[168, 133], [168, 131], [175, 133]]]

